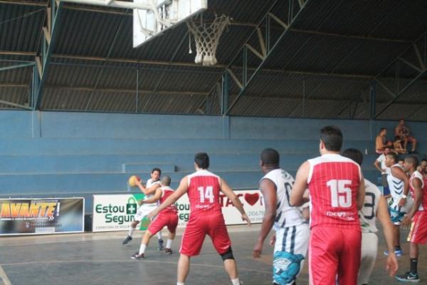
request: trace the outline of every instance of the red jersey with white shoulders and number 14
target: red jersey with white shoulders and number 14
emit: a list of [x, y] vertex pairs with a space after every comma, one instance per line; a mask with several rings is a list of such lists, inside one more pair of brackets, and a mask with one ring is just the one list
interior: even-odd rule
[[199, 170], [188, 176], [191, 214], [221, 213], [219, 192], [221, 178], [208, 170]]

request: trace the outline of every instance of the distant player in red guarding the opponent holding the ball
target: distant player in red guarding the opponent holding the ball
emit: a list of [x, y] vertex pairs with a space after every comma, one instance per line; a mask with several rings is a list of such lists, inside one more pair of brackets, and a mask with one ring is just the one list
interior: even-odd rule
[[[160, 203], [164, 202], [167, 197], [174, 194], [174, 190], [169, 187], [171, 185], [171, 177], [164, 176], [162, 177], [162, 187], [157, 188], [154, 196], [149, 197], [148, 199], [140, 200], [142, 204], [152, 204], [157, 201]], [[175, 238], [176, 226], [178, 225], [178, 215], [174, 205], [163, 209], [162, 212], [159, 212], [159, 215], [149, 224], [147, 231], [142, 237], [141, 246], [139, 247], [139, 252], [136, 252], [132, 255], [132, 259], [143, 259], [145, 254], [145, 249], [149, 243], [149, 239], [152, 238], [154, 234], [161, 231], [164, 227], [167, 227], [169, 230], [169, 238], [167, 239], [165, 252], [167, 254], [172, 254], [172, 241]]]

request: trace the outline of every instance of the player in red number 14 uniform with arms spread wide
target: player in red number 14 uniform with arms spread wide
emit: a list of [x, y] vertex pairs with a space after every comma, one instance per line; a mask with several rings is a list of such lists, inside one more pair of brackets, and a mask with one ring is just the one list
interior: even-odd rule
[[154, 217], [162, 209], [174, 204], [179, 197], [187, 193], [190, 201], [190, 217], [182, 236], [181, 253], [178, 261], [177, 285], [184, 285], [189, 273], [190, 258], [199, 255], [206, 234], [211, 237], [216, 252], [221, 255], [224, 267], [231, 278], [233, 285], [240, 284], [236, 261], [231, 250], [231, 241], [219, 202], [219, 192], [223, 192], [233, 202], [234, 207], [241, 212], [244, 221], [251, 224], [243, 209], [243, 205], [233, 190], [221, 177], [208, 171], [209, 156], [206, 152], [199, 152], [194, 157], [196, 172], [187, 175], [181, 180], [178, 189], [169, 196], [157, 209], [149, 214]]

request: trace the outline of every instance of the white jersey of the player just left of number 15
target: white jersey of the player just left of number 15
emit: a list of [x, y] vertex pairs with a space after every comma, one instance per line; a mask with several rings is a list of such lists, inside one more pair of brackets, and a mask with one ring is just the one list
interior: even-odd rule
[[261, 180], [268, 179], [275, 184], [276, 194], [278, 196], [276, 204], [276, 217], [274, 227], [292, 227], [302, 224], [305, 219], [302, 218], [300, 209], [291, 207], [289, 203], [290, 192], [295, 180], [288, 172], [280, 168], [271, 170]]

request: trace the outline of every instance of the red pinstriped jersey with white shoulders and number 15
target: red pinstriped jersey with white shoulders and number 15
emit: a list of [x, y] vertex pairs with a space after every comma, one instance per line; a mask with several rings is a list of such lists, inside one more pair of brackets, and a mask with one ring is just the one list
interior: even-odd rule
[[310, 225], [359, 229], [357, 192], [362, 179], [359, 165], [338, 154], [308, 160]]

